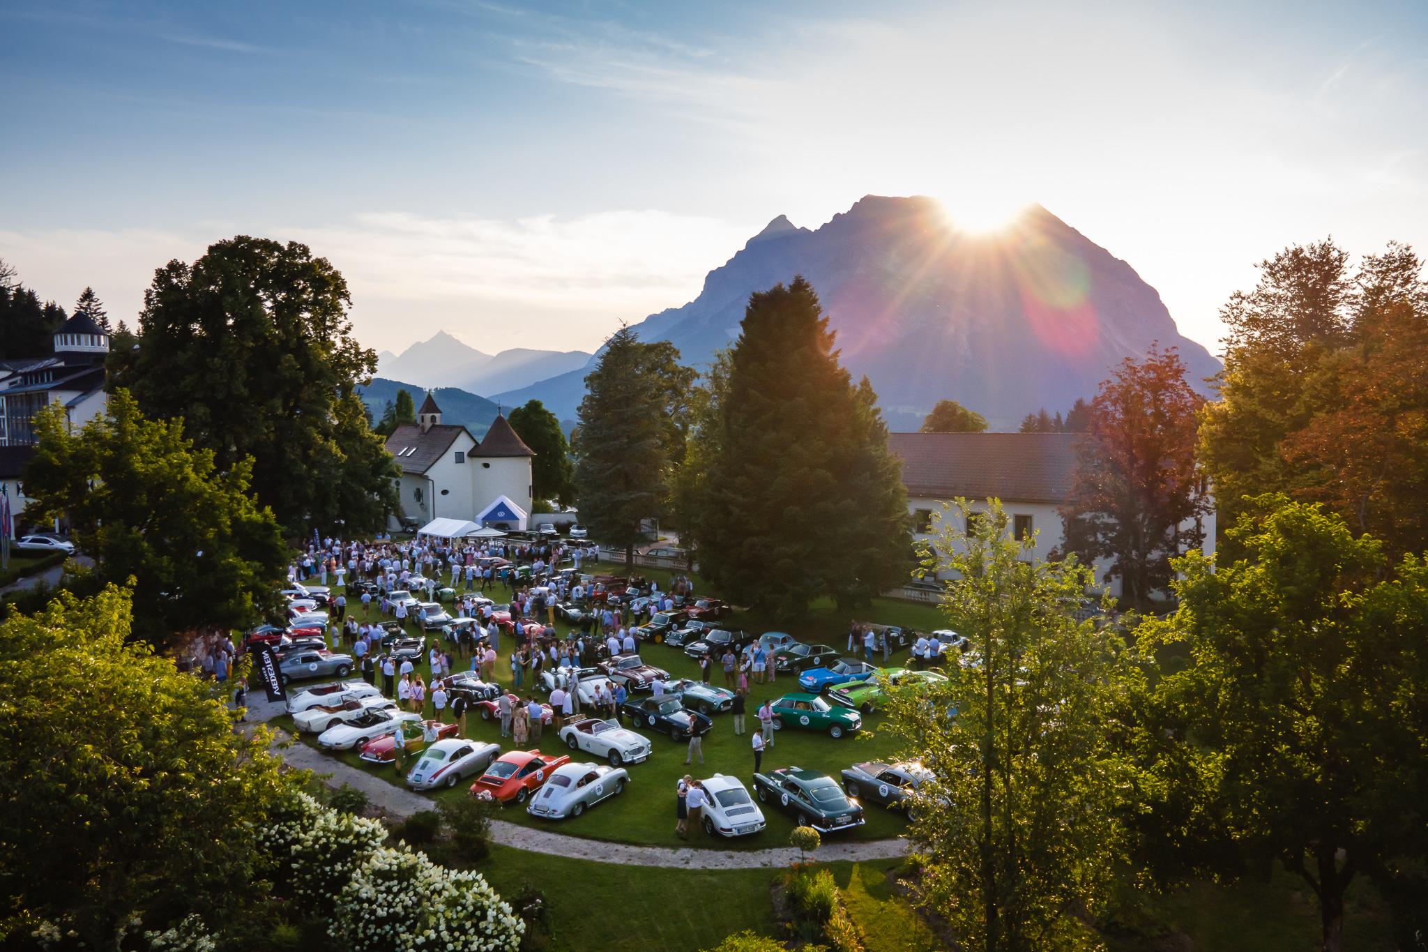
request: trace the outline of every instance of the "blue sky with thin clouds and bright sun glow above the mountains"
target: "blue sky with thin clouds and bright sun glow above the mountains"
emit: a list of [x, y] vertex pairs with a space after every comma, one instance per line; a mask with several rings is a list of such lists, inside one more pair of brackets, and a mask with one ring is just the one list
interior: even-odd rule
[[590, 350], [777, 214], [1035, 200], [1214, 347], [1291, 241], [1428, 243], [1425, 10], [0, 3], [0, 257], [133, 321], [169, 258], [296, 238], [373, 347]]

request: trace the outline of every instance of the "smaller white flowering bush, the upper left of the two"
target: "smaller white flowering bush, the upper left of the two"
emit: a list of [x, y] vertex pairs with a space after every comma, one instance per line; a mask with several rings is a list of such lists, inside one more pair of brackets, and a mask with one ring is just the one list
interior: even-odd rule
[[338, 814], [307, 794], [296, 794], [258, 832], [274, 861], [273, 893], [304, 913], [324, 916], [386, 838], [378, 821]]

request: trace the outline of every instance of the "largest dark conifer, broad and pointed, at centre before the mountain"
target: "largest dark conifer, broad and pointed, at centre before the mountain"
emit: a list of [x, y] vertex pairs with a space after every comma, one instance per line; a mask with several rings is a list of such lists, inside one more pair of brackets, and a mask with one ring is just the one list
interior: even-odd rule
[[912, 568], [877, 394], [853, 385], [833, 343], [803, 277], [750, 295], [694, 527], [704, 578], [781, 619], [821, 595], [868, 604]]

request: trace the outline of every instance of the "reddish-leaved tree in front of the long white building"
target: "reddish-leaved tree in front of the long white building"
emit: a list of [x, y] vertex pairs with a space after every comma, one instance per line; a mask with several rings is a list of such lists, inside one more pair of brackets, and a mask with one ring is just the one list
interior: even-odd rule
[[1211, 511], [1195, 462], [1195, 411], [1204, 402], [1185, 381], [1175, 348], [1151, 345], [1127, 358], [1091, 404], [1091, 430], [1075, 444], [1071, 490], [1060, 507], [1064, 551], [1082, 562], [1111, 558], [1137, 608], [1170, 585], [1170, 561], [1204, 542]]

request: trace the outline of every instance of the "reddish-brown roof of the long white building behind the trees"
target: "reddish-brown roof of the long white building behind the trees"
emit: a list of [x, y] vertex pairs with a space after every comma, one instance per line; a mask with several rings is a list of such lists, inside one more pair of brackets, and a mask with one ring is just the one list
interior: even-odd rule
[[1075, 467], [1074, 432], [890, 432], [911, 497], [932, 500], [1065, 500]]

